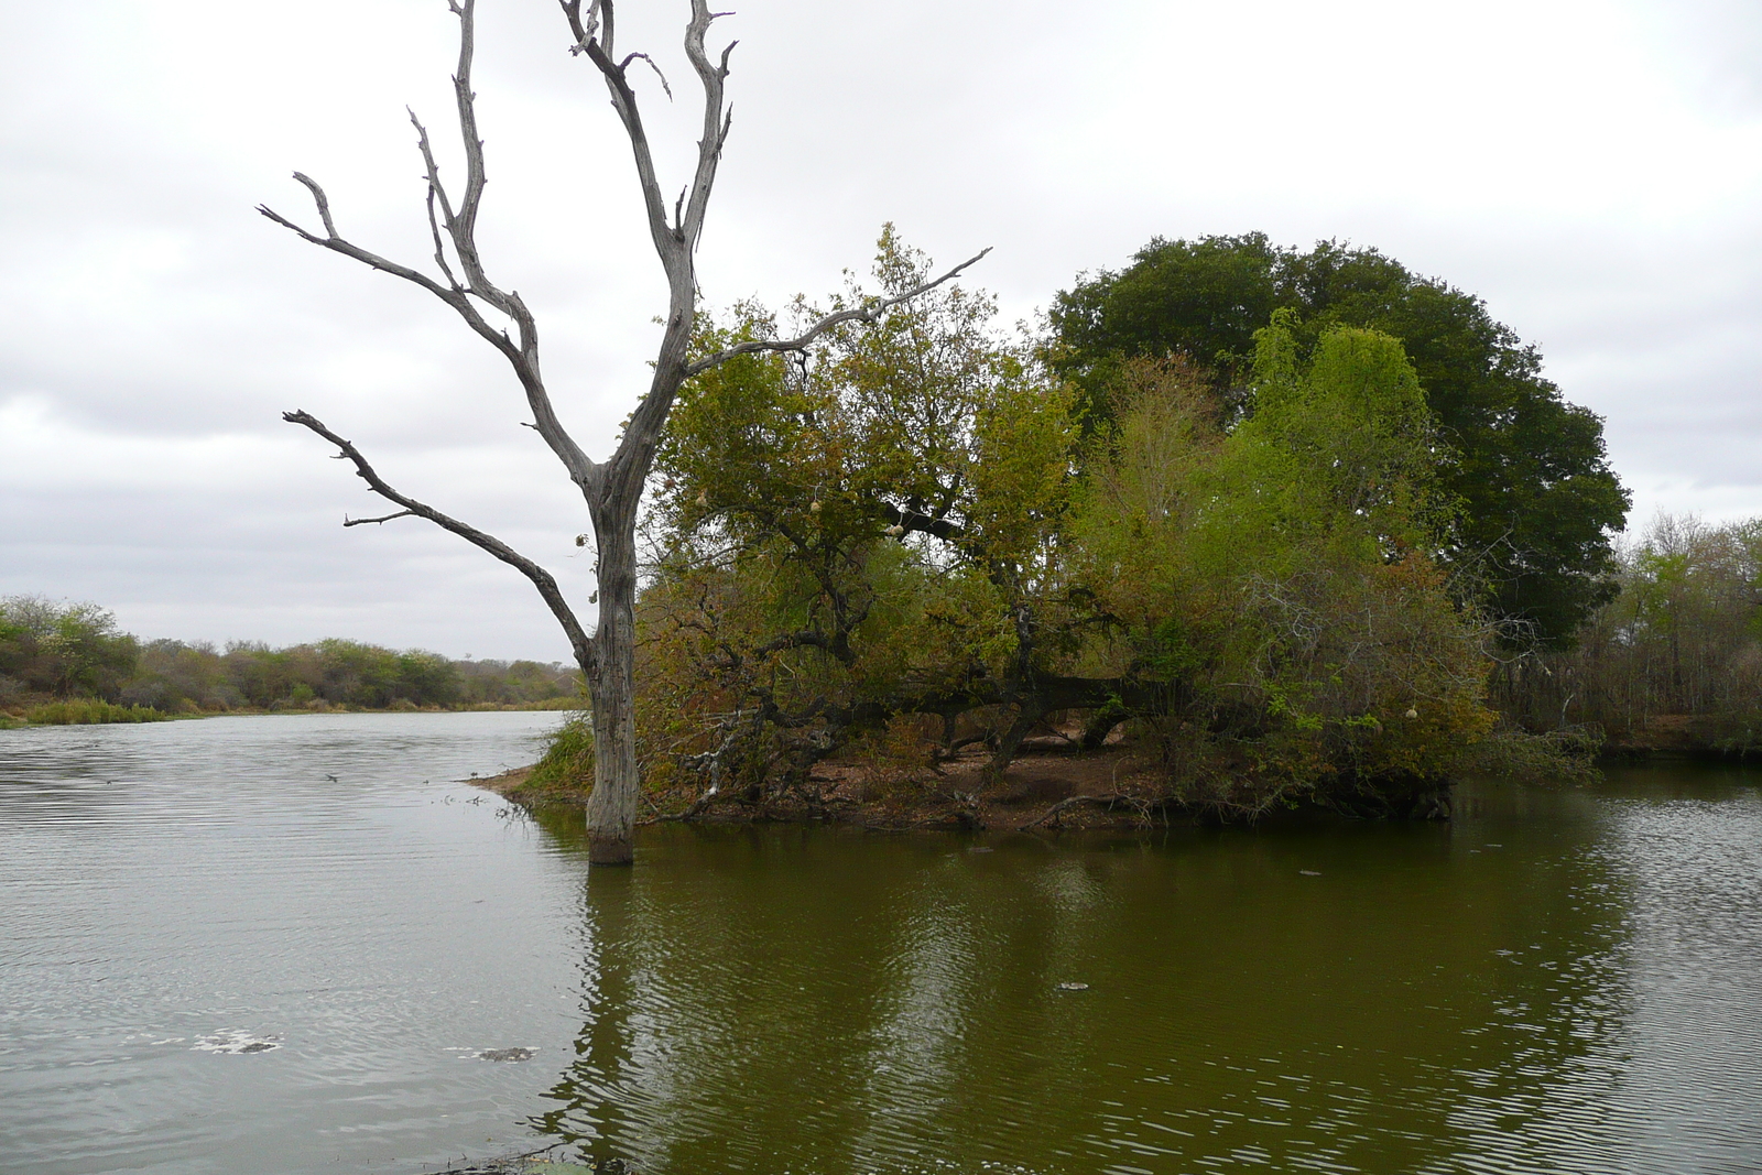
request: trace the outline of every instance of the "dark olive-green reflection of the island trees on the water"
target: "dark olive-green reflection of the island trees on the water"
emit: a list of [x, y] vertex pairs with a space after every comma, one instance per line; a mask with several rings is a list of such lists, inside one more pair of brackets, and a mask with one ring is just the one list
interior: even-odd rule
[[532, 1126], [648, 1171], [1547, 1166], [1607, 1105], [1623, 895], [1591, 821], [1477, 828], [664, 830], [587, 883]]

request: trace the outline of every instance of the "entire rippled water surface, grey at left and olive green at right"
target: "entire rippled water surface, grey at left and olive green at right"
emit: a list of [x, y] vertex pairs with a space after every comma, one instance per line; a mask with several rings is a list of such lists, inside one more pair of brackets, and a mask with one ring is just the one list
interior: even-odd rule
[[555, 721], [0, 733], [0, 1170], [1762, 1170], [1758, 773], [589, 876]]

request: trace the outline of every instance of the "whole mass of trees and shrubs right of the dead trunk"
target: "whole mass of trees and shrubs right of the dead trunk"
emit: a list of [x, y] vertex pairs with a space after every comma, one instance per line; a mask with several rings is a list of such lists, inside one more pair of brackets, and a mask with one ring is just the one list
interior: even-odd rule
[[[872, 287], [698, 345], [927, 273], [888, 231]], [[1602, 421], [1369, 248], [1158, 240], [1033, 338], [922, 294], [689, 384], [654, 493], [638, 736], [680, 816], [835, 807], [840, 763], [976, 810], [1024, 747], [1122, 738], [1135, 812], [1431, 816], [1464, 770], [1762, 742], [1762, 525], [1616, 546]]]

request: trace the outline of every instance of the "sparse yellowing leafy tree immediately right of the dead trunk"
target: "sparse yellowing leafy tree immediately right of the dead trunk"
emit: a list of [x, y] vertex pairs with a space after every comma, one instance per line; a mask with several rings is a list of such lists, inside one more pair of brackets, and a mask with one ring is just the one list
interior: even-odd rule
[[[793, 315], [872, 305], [929, 273], [888, 229], [876, 292], [853, 282]], [[811, 359], [747, 356], [680, 393], [641, 602], [650, 780], [800, 779], [906, 698], [1040, 655], [1017, 617], [1057, 608], [1071, 400], [994, 317], [988, 296], [939, 287], [826, 335]], [[698, 345], [777, 333], [742, 305]]]

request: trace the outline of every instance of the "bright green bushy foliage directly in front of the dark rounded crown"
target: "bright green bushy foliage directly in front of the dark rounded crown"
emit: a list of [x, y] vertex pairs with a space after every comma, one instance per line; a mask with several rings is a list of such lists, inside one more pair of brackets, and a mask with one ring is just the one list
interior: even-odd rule
[[1189, 803], [1408, 810], [1491, 728], [1484, 632], [1429, 555], [1448, 504], [1401, 345], [1334, 328], [1300, 363], [1292, 328], [1260, 331], [1230, 430], [1191, 368], [1121, 365], [1070, 528], [1117, 624], [1091, 655], [1166, 682]]

